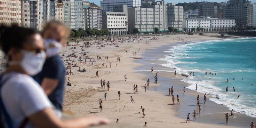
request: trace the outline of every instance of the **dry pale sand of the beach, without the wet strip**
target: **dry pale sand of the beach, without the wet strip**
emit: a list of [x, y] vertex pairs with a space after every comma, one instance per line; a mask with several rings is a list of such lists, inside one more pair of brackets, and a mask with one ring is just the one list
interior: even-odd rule
[[[127, 43], [129, 40], [124, 40], [124, 44], [117, 44], [119, 47], [106, 44], [104, 48], [98, 49], [97, 45], [92, 45], [91, 48], [86, 48], [86, 54], [89, 57], [96, 58], [96, 55], [102, 57], [109, 56], [109, 61], [105, 60], [96, 60], [95, 66], [89, 64], [80, 64], [77, 62], [78, 66], [85, 68], [85, 73], [74, 73], [74, 75], [67, 76], [70, 77], [70, 82], [72, 86], [66, 86], [65, 91], [65, 101], [64, 101], [64, 110], [74, 113], [76, 116], [104, 116], [109, 118], [112, 122], [115, 122], [116, 118], [119, 118], [121, 124], [127, 124], [126, 127], [140, 127], [144, 122], [148, 122], [148, 127], [170, 127], [174, 126], [177, 128], [190, 127], [220, 127], [224, 128], [226, 125], [220, 124], [205, 124], [199, 122], [191, 121], [189, 124], [184, 123], [186, 115], [183, 115], [183, 118], [178, 117], [177, 112], [174, 109], [176, 106], [169, 105], [171, 103], [171, 98], [168, 96], [163, 96], [163, 92], [156, 92], [148, 90], [144, 92], [144, 84], [146, 84], [148, 77], [145, 74], [141, 74], [139, 71], [134, 70], [136, 67], [140, 67], [143, 64], [137, 63], [137, 59], [133, 57], [142, 57], [142, 54], [146, 52], [146, 48], [156, 49], [156, 47], [170, 45], [170, 44], [180, 44], [182, 41], [179, 41], [177, 38], [186, 38], [188, 37], [189, 41], [198, 41], [202, 39], [219, 39], [216, 37], [205, 37], [197, 35], [168, 35], [165, 36], [156, 36], [158, 40], [149, 40], [149, 38], [140, 38], [132, 39], [134, 42]], [[152, 38], [152, 36], [150, 36]], [[145, 40], [148, 39], [149, 44], [145, 44]], [[173, 40], [172, 40], [173, 39]], [[175, 39], [175, 40], [174, 40]], [[183, 42], [184, 43], [184, 42]], [[82, 42], [80, 43], [82, 44]], [[81, 52], [81, 49], [70, 49], [71, 46], [68, 46], [62, 51], [63, 54], [72, 53], [76, 51], [77, 53]], [[132, 51], [137, 51], [140, 49], [139, 54], [132, 56]], [[125, 50], [128, 50], [126, 53]], [[66, 53], [66, 52], [67, 53]], [[71, 52], [72, 51], [72, 52]], [[61, 54], [62, 54], [61, 53]], [[142, 53], [142, 54], [141, 54]], [[116, 58], [121, 57], [121, 62], [116, 62]], [[64, 58], [66, 59], [66, 58]], [[75, 58], [76, 60], [78, 58]], [[142, 59], [144, 60], [144, 58]], [[111, 68], [102, 68], [101, 64], [108, 64], [111, 62]], [[118, 66], [115, 65], [117, 63]], [[76, 71], [77, 68], [72, 68], [73, 71]], [[95, 72], [99, 70], [100, 78], [94, 78]], [[127, 75], [127, 81], [124, 81], [124, 74]], [[149, 73], [150, 74], [150, 73]], [[159, 74], [164, 75], [166, 73]], [[151, 74], [152, 75], [152, 74]], [[155, 75], [155, 73], [154, 73]], [[106, 89], [100, 89], [100, 79], [110, 81], [110, 91]], [[177, 81], [178, 83], [180, 82]], [[159, 81], [160, 83], [160, 81]], [[139, 93], [134, 94], [133, 84], [138, 84]], [[75, 86], [76, 85], [76, 86]], [[154, 84], [150, 84], [152, 88]], [[159, 84], [154, 85], [154, 87], [159, 87]], [[153, 87], [153, 88], [154, 88]], [[118, 100], [117, 92], [121, 92], [121, 100]], [[99, 99], [104, 99], [103, 95], [107, 92], [107, 100], [103, 100], [103, 112], [99, 112]], [[189, 92], [189, 91], [188, 91]], [[135, 100], [135, 104], [130, 103], [130, 96]], [[182, 97], [180, 96], [180, 103], [183, 104]], [[167, 105], [164, 105], [167, 104]], [[138, 113], [140, 106], [143, 106], [146, 110], [146, 118], [141, 118], [142, 114]], [[223, 119], [223, 122], [225, 120]], [[134, 125], [134, 126], [133, 126]], [[248, 124], [249, 125], [249, 124]], [[104, 126], [104, 127], [110, 127]], [[111, 126], [111, 127], [115, 127]], [[118, 126], [117, 126], [118, 127]], [[233, 127], [228, 125], [228, 127]]]

